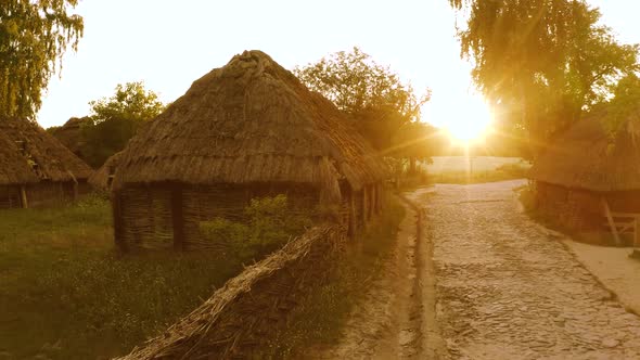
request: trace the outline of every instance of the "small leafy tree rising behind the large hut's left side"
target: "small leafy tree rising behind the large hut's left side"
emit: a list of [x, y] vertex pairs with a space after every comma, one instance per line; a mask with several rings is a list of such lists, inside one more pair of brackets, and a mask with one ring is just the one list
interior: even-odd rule
[[89, 102], [91, 116], [82, 125], [81, 153], [85, 160], [99, 167], [127, 145], [140, 126], [159, 115], [165, 105], [142, 82], [118, 85], [115, 94]]

